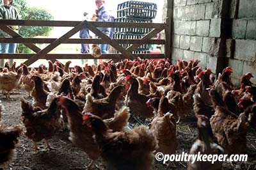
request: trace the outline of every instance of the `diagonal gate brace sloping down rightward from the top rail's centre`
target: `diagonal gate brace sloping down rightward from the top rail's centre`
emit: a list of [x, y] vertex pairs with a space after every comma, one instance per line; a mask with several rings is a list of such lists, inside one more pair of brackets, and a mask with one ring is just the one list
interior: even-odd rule
[[124, 47], [119, 45], [117, 42], [111, 40], [109, 36], [104, 35], [104, 33], [102, 33], [99, 29], [97, 29], [97, 27], [93, 26], [91, 23], [87, 22], [86, 20], [84, 20], [84, 22], [86, 22], [86, 27], [88, 27], [90, 31], [95, 33], [95, 35], [99, 36], [99, 38], [101, 38], [104, 42], [114, 47], [116, 50], [124, 54], [127, 58], [132, 58], [132, 54], [125, 50]]

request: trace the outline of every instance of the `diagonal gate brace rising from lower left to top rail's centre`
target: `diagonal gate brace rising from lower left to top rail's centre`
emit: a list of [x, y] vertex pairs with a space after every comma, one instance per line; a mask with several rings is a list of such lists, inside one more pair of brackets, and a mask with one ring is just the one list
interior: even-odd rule
[[[85, 21], [84, 21], [85, 22]], [[29, 58], [27, 61], [24, 62], [24, 64], [26, 64], [27, 66], [31, 65], [32, 63], [34, 63], [37, 59], [42, 58], [43, 56], [45, 56], [48, 52], [50, 52], [52, 49], [54, 49], [55, 47], [57, 47], [58, 45], [60, 45], [61, 43], [65, 42], [68, 38], [70, 38], [70, 36], [74, 35], [77, 33], [77, 31], [80, 31], [81, 28], [84, 26], [84, 22], [80, 22], [76, 27], [74, 27], [73, 29], [71, 29], [70, 31], [68, 31], [65, 35], [61, 36], [60, 38], [58, 38], [57, 40], [55, 40], [54, 42], [52, 42], [50, 45], [47, 45], [47, 47], [45, 47], [44, 49], [40, 50], [39, 52], [37, 52], [34, 56], [32, 56], [31, 58]]]

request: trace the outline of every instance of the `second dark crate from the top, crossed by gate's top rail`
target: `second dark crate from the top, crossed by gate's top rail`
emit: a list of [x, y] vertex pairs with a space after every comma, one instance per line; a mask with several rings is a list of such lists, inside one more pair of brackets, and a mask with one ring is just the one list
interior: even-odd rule
[[[114, 22], [143, 22], [143, 23], [152, 23], [152, 19], [140, 19], [134, 17], [124, 17], [115, 19]], [[143, 28], [143, 27], [115, 27], [115, 33], [140, 33], [147, 34], [152, 31], [152, 28]]]

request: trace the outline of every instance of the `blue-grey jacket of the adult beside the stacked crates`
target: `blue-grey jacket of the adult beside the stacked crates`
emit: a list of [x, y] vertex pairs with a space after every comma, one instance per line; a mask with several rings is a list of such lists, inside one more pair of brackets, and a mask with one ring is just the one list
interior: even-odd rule
[[[106, 11], [105, 6], [101, 6], [99, 10], [97, 11], [97, 20], [98, 22], [109, 22], [110, 17], [109, 13]], [[110, 35], [110, 28], [109, 27], [98, 27], [102, 33], [109, 36]]]

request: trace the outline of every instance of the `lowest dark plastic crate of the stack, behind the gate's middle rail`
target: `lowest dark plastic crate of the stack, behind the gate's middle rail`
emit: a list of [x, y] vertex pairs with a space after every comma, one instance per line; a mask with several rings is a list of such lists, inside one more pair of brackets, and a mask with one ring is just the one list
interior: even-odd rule
[[[144, 36], [144, 34], [132, 34], [132, 33], [115, 33], [114, 34], [114, 39], [130, 39], [130, 40], [135, 40], [135, 39], [141, 39], [141, 37]], [[129, 47], [131, 44], [121, 44], [122, 47], [125, 49]], [[149, 44], [143, 44], [141, 45], [138, 50], [149, 50], [150, 45]]]

